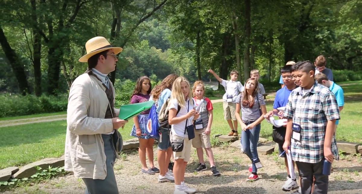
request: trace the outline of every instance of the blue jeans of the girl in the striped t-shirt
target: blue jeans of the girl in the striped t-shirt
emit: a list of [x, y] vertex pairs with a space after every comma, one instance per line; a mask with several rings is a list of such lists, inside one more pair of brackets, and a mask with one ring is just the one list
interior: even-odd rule
[[[249, 125], [252, 122], [245, 122], [245, 125]], [[258, 152], [256, 150], [256, 147], [258, 145], [259, 140], [259, 134], [260, 134], [260, 124], [257, 124], [253, 129], [247, 129], [246, 131], [241, 130], [241, 140], [240, 143], [243, 145], [243, 151], [244, 153], [250, 158], [251, 161], [253, 159], [258, 158]], [[255, 164], [252, 164], [252, 168], [254, 173], [257, 172], [257, 168], [255, 167]]]

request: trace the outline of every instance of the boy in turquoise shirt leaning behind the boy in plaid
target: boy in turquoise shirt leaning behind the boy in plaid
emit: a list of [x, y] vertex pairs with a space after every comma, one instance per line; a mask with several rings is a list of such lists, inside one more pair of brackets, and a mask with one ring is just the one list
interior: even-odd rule
[[[329, 90], [331, 90], [336, 96], [337, 104], [338, 104], [338, 110], [341, 112], [344, 105], [344, 95], [343, 95], [343, 89], [341, 86], [338, 86], [333, 81], [329, 80], [327, 75], [324, 73], [318, 73], [314, 76], [314, 79], [317, 80], [317, 82], [325, 87], [328, 87]], [[336, 135], [337, 127], [338, 127], [339, 120], [336, 121], [336, 125], [334, 126], [334, 135]]]

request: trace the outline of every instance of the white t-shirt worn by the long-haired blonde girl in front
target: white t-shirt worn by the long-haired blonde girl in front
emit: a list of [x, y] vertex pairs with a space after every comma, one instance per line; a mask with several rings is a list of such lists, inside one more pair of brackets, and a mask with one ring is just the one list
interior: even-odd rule
[[[192, 108], [194, 108], [194, 105], [196, 104], [196, 102], [195, 102], [194, 99], [192, 99], [192, 100], [194, 102], [193, 104], [190, 102], [190, 99], [186, 100], [186, 107], [181, 107], [180, 112], [178, 112], [176, 117], [184, 116], [184, 115], [186, 115], [188, 113], [188, 111], [187, 111], [188, 109], [190, 111]], [[170, 102], [169, 102], [169, 109], [174, 108], [177, 111], [177, 105], [178, 105], [177, 100], [176, 99], [171, 99]], [[194, 118], [193, 116], [188, 118], [188, 121], [187, 121], [188, 126], [193, 124], [192, 123], [193, 118]], [[177, 124], [173, 124], [173, 125], [171, 125], [171, 132], [173, 134], [178, 135], [178, 136], [188, 138], [189, 135], [187, 134], [187, 132], [186, 132], [186, 134], [184, 134], [185, 133], [185, 126], [186, 126], [186, 120], [183, 120], [183, 121], [181, 121], [181, 122], [179, 122]]]

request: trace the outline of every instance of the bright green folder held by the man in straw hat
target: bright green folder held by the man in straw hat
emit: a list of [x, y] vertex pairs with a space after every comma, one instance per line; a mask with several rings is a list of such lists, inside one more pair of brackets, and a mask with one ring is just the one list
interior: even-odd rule
[[153, 103], [155, 103], [155, 101], [151, 100], [151, 101], [147, 101], [147, 102], [121, 105], [121, 107], [119, 108], [118, 117], [123, 120], [129, 120], [129, 119], [139, 115], [140, 113], [150, 109], [152, 107]]

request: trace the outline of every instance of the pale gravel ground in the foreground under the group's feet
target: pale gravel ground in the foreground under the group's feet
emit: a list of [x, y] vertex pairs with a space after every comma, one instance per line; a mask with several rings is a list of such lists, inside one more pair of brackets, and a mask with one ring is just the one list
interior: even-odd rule
[[[222, 176], [213, 177], [210, 171], [201, 173], [192, 172], [197, 165], [197, 154], [193, 148], [191, 161], [187, 166], [185, 182], [198, 189], [197, 193], [207, 194], [287, 194], [281, 190], [286, 180], [283, 161], [277, 155], [261, 155], [263, 168], [260, 169], [260, 180], [247, 182], [249, 176], [247, 165], [250, 160], [239, 150], [230, 147], [214, 148], [217, 167]], [[156, 158], [156, 153], [155, 153]], [[206, 156], [205, 156], [206, 158]], [[333, 164], [334, 171], [329, 176], [329, 194], [362, 194], [362, 159], [350, 157], [349, 161], [340, 160]], [[157, 162], [155, 162], [157, 164]], [[157, 174], [147, 175], [140, 173], [140, 163], [136, 154], [127, 155], [124, 160], [115, 163], [115, 176], [119, 193], [144, 194], [172, 194], [173, 183], [158, 183]], [[84, 193], [84, 183], [72, 174], [64, 177], [52, 178], [40, 184], [20, 187], [10, 193]]]

